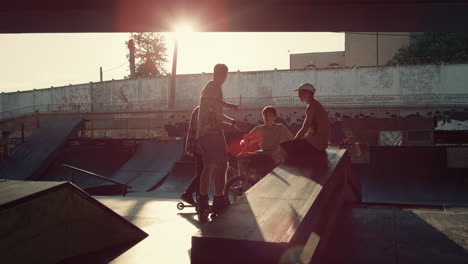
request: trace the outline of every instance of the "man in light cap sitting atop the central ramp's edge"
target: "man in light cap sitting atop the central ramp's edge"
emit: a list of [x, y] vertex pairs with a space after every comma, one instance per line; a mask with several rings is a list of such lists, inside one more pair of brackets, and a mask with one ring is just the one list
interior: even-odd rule
[[294, 140], [283, 142], [281, 146], [286, 151], [288, 159], [323, 153], [330, 139], [328, 113], [322, 104], [314, 99], [315, 87], [312, 84], [301, 84], [294, 91], [298, 93], [301, 102], [307, 103], [306, 116]]

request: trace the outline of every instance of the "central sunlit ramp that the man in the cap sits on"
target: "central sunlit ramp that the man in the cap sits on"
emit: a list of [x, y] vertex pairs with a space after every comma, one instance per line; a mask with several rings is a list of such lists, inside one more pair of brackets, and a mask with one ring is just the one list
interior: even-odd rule
[[192, 236], [192, 263], [318, 259], [341, 208], [350, 169], [345, 150], [282, 164]]

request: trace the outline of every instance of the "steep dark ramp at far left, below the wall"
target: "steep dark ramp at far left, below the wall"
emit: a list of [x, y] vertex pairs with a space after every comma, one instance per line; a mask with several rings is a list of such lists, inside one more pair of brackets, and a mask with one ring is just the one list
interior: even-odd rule
[[41, 123], [7, 160], [0, 161], [0, 178], [37, 180], [57, 157], [67, 139], [76, 134], [81, 119], [54, 119]]

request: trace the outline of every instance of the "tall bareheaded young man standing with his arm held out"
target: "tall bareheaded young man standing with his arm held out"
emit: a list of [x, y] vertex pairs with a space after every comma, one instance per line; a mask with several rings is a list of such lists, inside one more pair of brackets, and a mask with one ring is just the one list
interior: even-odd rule
[[209, 81], [201, 92], [198, 112], [197, 139], [203, 159], [203, 171], [200, 177], [198, 196], [198, 215], [200, 221], [206, 221], [209, 214], [208, 191], [211, 179], [214, 178], [215, 197], [213, 213], [221, 212], [227, 205], [224, 196], [226, 172], [228, 169], [228, 152], [224, 137], [223, 123], [235, 126], [235, 120], [223, 113], [223, 107], [237, 110], [238, 106], [224, 101], [222, 85], [226, 81], [228, 68], [216, 64], [213, 80]]

